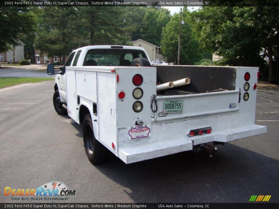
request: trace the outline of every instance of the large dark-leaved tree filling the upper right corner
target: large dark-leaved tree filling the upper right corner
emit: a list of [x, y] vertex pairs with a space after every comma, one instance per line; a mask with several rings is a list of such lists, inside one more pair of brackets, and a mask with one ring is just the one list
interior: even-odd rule
[[279, 76], [278, 7], [203, 7], [195, 15], [202, 45], [224, 57], [220, 64], [263, 71], [268, 59], [269, 81]]

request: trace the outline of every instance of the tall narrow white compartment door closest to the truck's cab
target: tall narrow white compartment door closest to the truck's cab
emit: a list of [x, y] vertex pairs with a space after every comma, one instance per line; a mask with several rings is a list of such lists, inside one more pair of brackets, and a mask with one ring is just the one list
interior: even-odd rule
[[66, 70], [66, 82], [67, 82], [67, 108], [68, 115], [78, 122], [77, 118], [77, 99], [76, 99], [76, 71]]

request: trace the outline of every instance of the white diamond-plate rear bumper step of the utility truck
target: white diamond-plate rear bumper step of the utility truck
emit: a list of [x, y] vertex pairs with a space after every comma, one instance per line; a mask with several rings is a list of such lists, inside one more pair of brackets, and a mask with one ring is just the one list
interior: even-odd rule
[[267, 127], [260, 125], [250, 125], [241, 128], [228, 129], [225, 131], [214, 131], [203, 136], [194, 136], [176, 140], [157, 141], [152, 144], [145, 144], [136, 147], [119, 148], [119, 158], [125, 163], [135, 163], [161, 156], [166, 156], [178, 152], [193, 149], [193, 145], [204, 144], [212, 141], [229, 142], [240, 138], [264, 134]]

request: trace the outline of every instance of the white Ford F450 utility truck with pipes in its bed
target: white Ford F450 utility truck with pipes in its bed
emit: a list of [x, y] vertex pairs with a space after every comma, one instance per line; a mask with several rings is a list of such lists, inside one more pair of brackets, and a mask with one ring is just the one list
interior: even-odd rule
[[[53, 104], [83, 124], [89, 160], [125, 163], [267, 132], [255, 125], [257, 67], [151, 66], [143, 48], [86, 46], [59, 68]], [[53, 64], [48, 74], [56, 74]], [[247, 139], [249, 140], [249, 139]]]

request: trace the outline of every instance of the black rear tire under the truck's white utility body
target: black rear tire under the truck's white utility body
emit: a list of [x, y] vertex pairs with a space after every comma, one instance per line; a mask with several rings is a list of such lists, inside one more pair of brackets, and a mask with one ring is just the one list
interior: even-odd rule
[[83, 120], [83, 143], [86, 155], [92, 164], [103, 163], [107, 159], [108, 150], [94, 137], [90, 114], [86, 114]]

